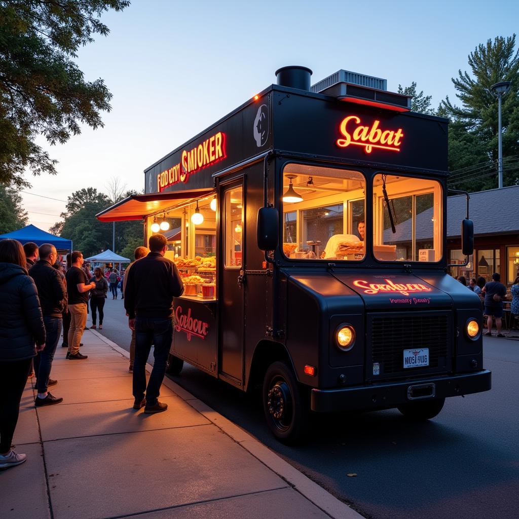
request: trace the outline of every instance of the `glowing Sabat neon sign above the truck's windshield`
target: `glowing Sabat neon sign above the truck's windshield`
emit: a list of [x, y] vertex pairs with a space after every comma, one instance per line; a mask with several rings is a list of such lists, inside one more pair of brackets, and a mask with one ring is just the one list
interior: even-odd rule
[[[357, 127], [352, 128], [350, 122], [357, 124]], [[344, 139], [337, 139], [337, 146], [346, 148], [350, 144], [355, 146], [364, 146], [366, 153], [371, 153], [373, 148], [388, 149], [392, 152], [399, 152], [402, 144], [402, 137], [404, 136], [402, 128], [397, 131], [381, 130], [379, 120], [373, 122], [373, 126], [362, 126], [360, 117], [350, 115], [345, 117], [339, 126], [340, 134]]]

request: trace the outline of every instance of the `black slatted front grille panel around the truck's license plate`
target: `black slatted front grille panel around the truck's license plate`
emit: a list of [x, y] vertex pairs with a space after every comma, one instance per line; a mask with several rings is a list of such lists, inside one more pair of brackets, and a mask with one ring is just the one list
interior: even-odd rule
[[[366, 380], [428, 376], [451, 370], [452, 313], [371, 313], [366, 321]], [[403, 351], [413, 348], [429, 348], [429, 366], [403, 367]], [[379, 375], [374, 374], [375, 363]]]

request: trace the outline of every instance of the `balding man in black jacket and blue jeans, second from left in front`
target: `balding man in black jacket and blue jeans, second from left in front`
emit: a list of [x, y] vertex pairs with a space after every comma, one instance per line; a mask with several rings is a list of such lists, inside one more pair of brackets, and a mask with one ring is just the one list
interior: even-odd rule
[[33, 278], [40, 305], [42, 305], [43, 321], [47, 339], [45, 348], [34, 359], [34, 371], [36, 373], [36, 389], [38, 395], [36, 406], [59, 404], [62, 398], [53, 397], [47, 391], [48, 386], [57, 384], [57, 380], [49, 378], [52, 367], [52, 359], [61, 334], [62, 314], [66, 301], [66, 289], [59, 272], [52, 267], [56, 262], [58, 253], [56, 247], [50, 243], [44, 243], [39, 248], [39, 261], [29, 270]]

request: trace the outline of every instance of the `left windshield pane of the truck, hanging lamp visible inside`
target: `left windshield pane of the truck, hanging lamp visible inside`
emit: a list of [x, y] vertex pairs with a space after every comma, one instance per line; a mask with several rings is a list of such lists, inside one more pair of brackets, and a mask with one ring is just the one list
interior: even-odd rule
[[365, 178], [359, 171], [283, 169], [283, 253], [297, 260], [359, 261], [365, 254]]

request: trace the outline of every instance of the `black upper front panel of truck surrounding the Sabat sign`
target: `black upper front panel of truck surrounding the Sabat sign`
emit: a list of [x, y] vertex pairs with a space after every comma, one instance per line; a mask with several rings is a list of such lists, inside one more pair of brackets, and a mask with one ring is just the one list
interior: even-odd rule
[[[278, 87], [279, 88], [279, 87]], [[447, 121], [439, 117], [410, 112], [394, 112], [359, 104], [337, 101], [331, 97], [312, 97], [298, 91], [274, 91], [272, 99], [274, 148], [366, 163], [447, 170]], [[382, 131], [402, 129], [400, 151], [363, 146], [337, 146], [340, 123], [356, 115], [360, 125], [372, 127], [375, 120]], [[353, 127], [352, 127], [353, 128]]]

